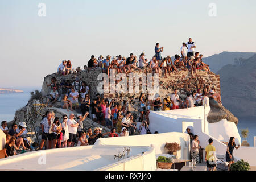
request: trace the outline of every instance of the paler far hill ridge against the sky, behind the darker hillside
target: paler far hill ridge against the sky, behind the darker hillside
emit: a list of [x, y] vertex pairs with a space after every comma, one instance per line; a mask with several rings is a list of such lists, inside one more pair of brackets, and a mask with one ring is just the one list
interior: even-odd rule
[[203, 58], [204, 63], [210, 65], [210, 70], [217, 73], [227, 64], [238, 64], [241, 59], [249, 59], [256, 52], [221, 52], [209, 57]]

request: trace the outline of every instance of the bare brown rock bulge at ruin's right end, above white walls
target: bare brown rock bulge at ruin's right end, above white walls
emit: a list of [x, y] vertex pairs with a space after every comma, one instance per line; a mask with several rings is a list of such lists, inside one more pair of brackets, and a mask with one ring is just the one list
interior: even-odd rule
[[226, 119], [227, 121], [238, 123], [238, 119], [223, 105], [218, 104], [214, 99], [210, 99], [210, 112], [207, 116], [207, 121], [209, 123], [216, 123], [221, 121], [221, 119]]

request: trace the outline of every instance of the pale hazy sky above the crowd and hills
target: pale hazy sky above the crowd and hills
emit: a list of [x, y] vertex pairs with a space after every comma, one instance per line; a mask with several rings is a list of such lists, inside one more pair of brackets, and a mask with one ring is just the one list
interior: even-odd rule
[[204, 56], [255, 52], [255, 8], [254, 0], [0, 0], [0, 87], [42, 86], [63, 59], [83, 68], [90, 55], [151, 58], [156, 42], [173, 56], [189, 37]]

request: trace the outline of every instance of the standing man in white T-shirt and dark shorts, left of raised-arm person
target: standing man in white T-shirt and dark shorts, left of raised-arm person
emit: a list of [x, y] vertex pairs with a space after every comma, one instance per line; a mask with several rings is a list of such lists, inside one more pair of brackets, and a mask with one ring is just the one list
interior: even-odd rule
[[69, 115], [68, 119], [68, 133], [69, 133], [69, 139], [68, 139], [68, 147], [73, 147], [76, 142], [76, 133], [77, 128], [79, 126], [79, 123], [75, 121], [75, 115], [72, 113]]

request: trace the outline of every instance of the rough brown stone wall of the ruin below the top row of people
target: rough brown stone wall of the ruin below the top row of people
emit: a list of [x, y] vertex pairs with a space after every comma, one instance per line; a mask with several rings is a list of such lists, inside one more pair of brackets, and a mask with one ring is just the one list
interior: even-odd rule
[[[132, 69], [134, 73], [142, 74], [142, 73], [150, 73], [151, 69], [144, 68], [142, 70], [134, 70]], [[80, 81], [85, 81], [89, 88], [90, 88], [90, 98], [96, 98], [96, 94], [98, 93], [97, 87], [102, 80], [97, 80], [97, 77], [100, 73], [106, 73], [106, 70], [102, 69], [86, 69], [81, 71], [77, 74], [77, 77], [80, 78]], [[181, 71], [179, 72], [172, 72], [170, 76], [167, 74], [167, 78], [164, 78], [164, 73], [162, 72], [162, 75], [159, 75], [159, 92], [161, 100], [163, 100], [164, 97], [171, 96], [171, 94], [174, 92], [174, 89], [178, 90], [178, 94], [182, 98], [186, 98], [187, 92], [192, 92], [193, 90], [201, 89], [203, 90], [204, 85], [209, 84], [210, 86], [215, 86], [216, 91], [220, 93], [220, 76], [215, 75], [213, 72], [208, 73], [207, 71], [198, 70], [197, 71], [199, 77], [194, 78], [191, 77], [191, 71]], [[117, 72], [115, 71], [115, 76], [117, 76]], [[60, 82], [63, 79], [72, 80], [75, 81], [75, 77], [73, 74], [68, 76], [57, 76], [57, 74], [48, 75], [44, 78], [43, 86], [42, 86], [42, 94], [49, 94], [51, 91], [46, 86], [46, 81], [49, 83], [51, 82], [51, 78], [56, 77], [57, 81]], [[153, 74], [154, 77], [154, 74]], [[140, 78], [140, 82], [141, 82]], [[115, 83], [117, 83], [118, 80], [115, 80]], [[129, 85], [129, 76], [127, 76], [127, 85]], [[134, 83], [135, 85], [135, 83]], [[142, 84], [140, 83], [140, 86]], [[143, 85], [144, 86], [144, 85]], [[127, 86], [128, 87], [128, 86]], [[128, 90], [129, 88], [127, 88]], [[109, 90], [110, 90], [110, 79], [109, 79]], [[139, 108], [139, 95], [140, 93], [121, 93], [118, 94], [115, 93], [104, 93], [102, 96], [104, 98], [108, 98], [109, 100], [115, 99], [116, 102], [119, 102], [119, 104], [123, 105], [124, 101], [127, 101], [126, 107], [129, 111], [132, 111], [133, 113], [138, 114], [138, 108]], [[147, 94], [146, 94], [147, 95]], [[150, 95], [150, 94], [149, 94]]]

